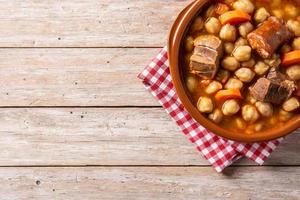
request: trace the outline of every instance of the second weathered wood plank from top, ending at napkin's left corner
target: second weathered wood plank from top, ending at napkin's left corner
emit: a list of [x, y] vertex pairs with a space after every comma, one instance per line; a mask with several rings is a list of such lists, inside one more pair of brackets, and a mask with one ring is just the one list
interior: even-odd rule
[[0, 49], [0, 106], [158, 106], [137, 79], [158, 52]]

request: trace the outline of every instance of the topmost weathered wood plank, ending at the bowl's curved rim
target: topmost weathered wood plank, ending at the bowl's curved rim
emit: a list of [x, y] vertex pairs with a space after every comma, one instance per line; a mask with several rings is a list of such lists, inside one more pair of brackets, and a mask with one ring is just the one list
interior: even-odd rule
[[191, 0], [0, 1], [1, 47], [164, 46]]

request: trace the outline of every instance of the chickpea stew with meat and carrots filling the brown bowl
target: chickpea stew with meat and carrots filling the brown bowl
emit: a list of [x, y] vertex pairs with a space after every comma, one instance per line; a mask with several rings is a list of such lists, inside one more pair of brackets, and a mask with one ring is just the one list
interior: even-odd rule
[[300, 108], [300, 0], [219, 0], [182, 44], [194, 105], [219, 126], [251, 134]]

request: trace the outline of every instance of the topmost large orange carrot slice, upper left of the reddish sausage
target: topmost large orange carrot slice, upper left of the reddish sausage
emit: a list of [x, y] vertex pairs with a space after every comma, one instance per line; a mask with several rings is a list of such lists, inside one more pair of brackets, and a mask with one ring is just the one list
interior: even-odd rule
[[241, 10], [233, 10], [220, 16], [221, 24], [237, 25], [251, 20], [251, 16]]

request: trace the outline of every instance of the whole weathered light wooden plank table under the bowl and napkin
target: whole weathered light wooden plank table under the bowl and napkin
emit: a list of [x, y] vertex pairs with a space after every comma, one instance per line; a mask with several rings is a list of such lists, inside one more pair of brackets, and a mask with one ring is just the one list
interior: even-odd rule
[[0, 199], [300, 199], [300, 137], [216, 173], [137, 80], [179, 0], [0, 1]]

